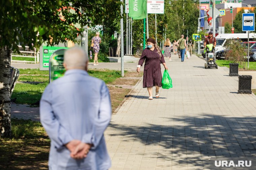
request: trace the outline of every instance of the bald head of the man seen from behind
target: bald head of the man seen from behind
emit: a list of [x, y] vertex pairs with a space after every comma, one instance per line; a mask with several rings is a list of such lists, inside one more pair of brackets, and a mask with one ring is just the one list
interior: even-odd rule
[[72, 47], [64, 53], [64, 66], [69, 69], [87, 70], [88, 56], [80, 47]]

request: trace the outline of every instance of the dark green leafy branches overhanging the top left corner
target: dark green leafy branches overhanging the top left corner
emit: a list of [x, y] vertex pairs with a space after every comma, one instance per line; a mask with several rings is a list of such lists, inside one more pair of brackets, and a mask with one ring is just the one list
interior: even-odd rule
[[[50, 41], [50, 37], [53, 44], [76, 41], [83, 29], [77, 30], [74, 24], [83, 27], [89, 24], [88, 19], [93, 25], [108, 23], [120, 16], [120, 1], [115, 0], [6, 0], [0, 4], [0, 47], [15, 50], [19, 42], [33, 48]], [[75, 12], [70, 12], [72, 9]], [[59, 18], [60, 12], [64, 21]]]

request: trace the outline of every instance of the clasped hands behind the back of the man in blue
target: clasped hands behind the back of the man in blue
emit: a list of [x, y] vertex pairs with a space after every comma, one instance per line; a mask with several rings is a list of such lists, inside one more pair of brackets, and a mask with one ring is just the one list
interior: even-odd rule
[[81, 140], [71, 140], [65, 145], [70, 151], [70, 157], [73, 159], [83, 159], [89, 153], [92, 145], [83, 143]]

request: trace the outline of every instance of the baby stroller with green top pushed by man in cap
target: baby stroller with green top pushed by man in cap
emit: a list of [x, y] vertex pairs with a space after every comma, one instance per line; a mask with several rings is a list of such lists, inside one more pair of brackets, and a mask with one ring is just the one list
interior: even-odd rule
[[218, 69], [218, 64], [216, 64], [215, 49], [213, 48], [213, 44], [207, 44], [203, 54], [205, 55], [204, 68], [207, 69], [207, 68], [215, 67], [216, 69]]

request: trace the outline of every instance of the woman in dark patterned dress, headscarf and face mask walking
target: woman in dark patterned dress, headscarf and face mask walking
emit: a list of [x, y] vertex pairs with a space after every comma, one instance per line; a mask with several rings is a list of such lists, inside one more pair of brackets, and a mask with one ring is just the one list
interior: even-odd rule
[[[146, 61], [145, 61], [146, 60]], [[147, 40], [147, 48], [145, 48], [137, 65], [137, 72], [145, 61], [143, 72], [143, 88], [147, 88], [149, 92], [149, 100], [152, 100], [152, 89], [156, 87], [156, 98], [159, 98], [159, 88], [162, 87], [161, 63], [168, 70], [164, 61], [163, 54], [157, 46], [153, 38]]]

